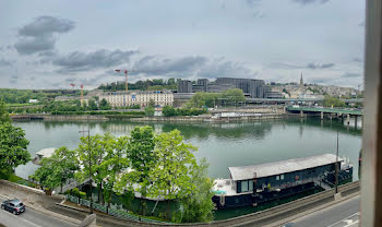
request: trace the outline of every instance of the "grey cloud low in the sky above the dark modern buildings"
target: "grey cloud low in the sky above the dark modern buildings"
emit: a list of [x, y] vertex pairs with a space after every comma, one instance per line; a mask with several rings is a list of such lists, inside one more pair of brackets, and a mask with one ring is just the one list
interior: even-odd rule
[[191, 73], [207, 59], [204, 57], [183, 57], [180, 59], [160, 59], [155, 56], [146, 56], [133, 64], [133, 73], [145, 73], [150, 75], [164, 75], [168, 73]]

